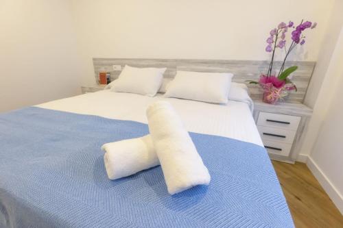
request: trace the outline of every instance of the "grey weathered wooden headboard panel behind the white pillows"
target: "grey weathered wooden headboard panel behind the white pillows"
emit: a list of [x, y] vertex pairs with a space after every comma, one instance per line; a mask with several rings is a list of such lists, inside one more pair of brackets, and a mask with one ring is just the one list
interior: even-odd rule
[[[233, 81], [257, 80], [261, 73], [268, 70], [269, 62], [252, 60], [168, 60], [168, 59], [119, 59], [119, 58], [93, 58], [95, 79], [99, 81], [100, 71], [109, 71], [111, 81], [116, 79], [121, 71], [113, 71], [113, 65], [121, 65], [121, 69], [128, 64], [136, 67], [167, 67], [164, 77], [173, 78], [176, 70], [198, 72], [229, 72], [233, 73]], [[281, 62], [274, 63], [274, 69], [279, 69]], [[288, 66], [299, 66], [294, 73], [292, 81], [296, 84], [298, 92], [292, 92], [287, 97], [288, 101], [303, 103], [309, 81], [316, 62], [287, 62]], [[248, 85], [250, 97], [258, 99], [263, 92], [259, 86]]]

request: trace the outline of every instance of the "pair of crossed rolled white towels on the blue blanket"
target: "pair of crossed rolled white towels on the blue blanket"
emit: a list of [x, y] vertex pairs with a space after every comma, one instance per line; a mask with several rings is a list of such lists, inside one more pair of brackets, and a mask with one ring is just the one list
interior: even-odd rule
[[119, 179], [161, 163], [169, 194], [208, 185], [209, 170], [171, 104], [150, 105], [147, 121], [150, 135], [102, 146], [108, 178]]

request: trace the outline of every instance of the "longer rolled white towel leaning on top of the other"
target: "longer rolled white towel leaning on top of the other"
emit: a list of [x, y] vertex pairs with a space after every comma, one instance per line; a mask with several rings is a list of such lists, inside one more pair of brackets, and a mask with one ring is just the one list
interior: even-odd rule
[[150, 105], [147, 121], [169, 194], [208, 185], [209, 170], [171, 104], [157, 101]]

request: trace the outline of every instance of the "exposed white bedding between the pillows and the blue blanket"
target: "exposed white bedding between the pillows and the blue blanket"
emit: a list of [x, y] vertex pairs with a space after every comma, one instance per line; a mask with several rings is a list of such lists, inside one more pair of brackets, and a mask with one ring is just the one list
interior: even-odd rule
[[188, 131], [235, 138], [263, 146], [248, 104], [229, 101], [226, 105], [183, 99], [147, 97], [139, 94], [103, 90], [36, 105], [51, 110], [73, 112], [147, 123], [147, 105], [158, 100], [169, 101]]

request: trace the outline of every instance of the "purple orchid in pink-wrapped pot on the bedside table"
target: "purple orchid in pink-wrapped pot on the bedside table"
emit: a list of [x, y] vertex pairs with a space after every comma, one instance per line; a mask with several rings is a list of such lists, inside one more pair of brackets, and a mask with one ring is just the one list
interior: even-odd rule
[[[268, 43], [265, 47], [265, 51], [272, 53], [272, 59], [270, 60], [269, 68], [267, 74], [262, 74], [259, 81], [249, 80], [250, 84], [259, 84], [263, 88], [263, 101], [267, 103], [276, 103], [278, 99], [282, 99], [287, 96], [289, 90], [297, 90], [296, 85], [288, 78], [298, 66], [291, 66], [285, 69], [285, 62], [294, 48], [297, 45], [304, 45], [306, 36], [303, 35], [305, 29], [314, 29], [317, 23], [311, 23], [311, 21], [306, 21], [294, 27], [294, 23], [289, 21], [288, 24], [281, 22], [277, 28], [270, 31], [270, 36], [267, 38]], [[289, 29], [294, 29], [292, 31], [292, 42], [287, 47], [286, 44], [286, 33]], [[280, 71], [278, 75], [272, 75], [274, 55], [276, 49], [281, 49], [285, 51], [285, 58], [281, 64]]]

